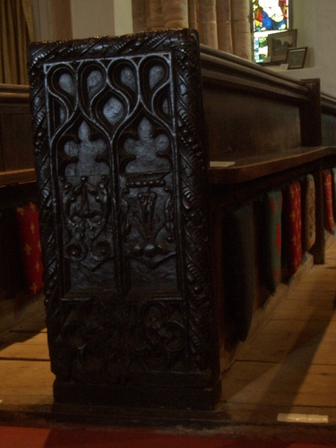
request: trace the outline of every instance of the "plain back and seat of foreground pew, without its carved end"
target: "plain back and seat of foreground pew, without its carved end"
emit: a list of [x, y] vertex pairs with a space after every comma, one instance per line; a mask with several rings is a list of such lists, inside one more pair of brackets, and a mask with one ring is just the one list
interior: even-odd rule
[[[263, 216], [258, 217], [256, 209], [263, 194], [281, 190], [293, 180], [302, 181], [311, 174], [316, 188], [316, 237], [309, 252], [314, 263], [323, 263], [326, 232], [322, 175], [323, 169], [335, 164], [335, 100], [321, 94], [319, 80], [295, 82], [210, 47], [201, 46], [201, 68], [214, 223], [213, 282], [215, 297], [221, 297], [217, 301], [220, 354], [224, 359], [222, 365], [228, 366], [232, 353], [233, 358], [236, 355], [232, 338], [236, 339], [233, 347], [237, 340], [246, 339], [254, 314], [261, 309], [264, 313], [263, 308], [270, 301], [270, 290], [265, 288], [260, 269], [263, 234], [251, 235], [251, 245], [255, 245], [253, 256], [258, 256], [254, 263], [259, 266], [254, 273], [254, 294], [231, 287], [232, 283], [247, 280], [239, 273], [235, 277], [227, 262], [225, 221], [231, 226], [229, 217], [233, 211], [250, 204], [254, 228], [261, 227]], [[218, 168], [215, 162], [220, 161], [233, 161], [234, 165]], [[282, 239], [285, 246], [286, 240], [283, 236]], [[282, 272], [282, 280], [291, 279]], [[259, 321], [255, 319], [256, 332]]]

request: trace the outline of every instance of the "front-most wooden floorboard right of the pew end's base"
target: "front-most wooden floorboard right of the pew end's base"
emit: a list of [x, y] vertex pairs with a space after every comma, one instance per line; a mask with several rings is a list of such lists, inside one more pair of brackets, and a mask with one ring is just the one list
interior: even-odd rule
[[336, 406], [336, 366], [291, 363], [237, 362], [226, 379], [223, 399], [250, 403], [254, 412], [263, 406]]

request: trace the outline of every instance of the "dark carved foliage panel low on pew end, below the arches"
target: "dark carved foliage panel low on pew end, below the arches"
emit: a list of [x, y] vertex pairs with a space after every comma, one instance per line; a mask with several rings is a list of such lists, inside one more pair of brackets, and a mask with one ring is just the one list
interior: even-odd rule
[[67, 362], [59, 377], [115, 383], [139, 369], [168, 371], [185, 349], [185, 327], [177, 321], [180, 308], [178, 302], [162, 301], [127, 309], [107, 306], [97, 298], [73, 302], [62, 329], [59, 357]]

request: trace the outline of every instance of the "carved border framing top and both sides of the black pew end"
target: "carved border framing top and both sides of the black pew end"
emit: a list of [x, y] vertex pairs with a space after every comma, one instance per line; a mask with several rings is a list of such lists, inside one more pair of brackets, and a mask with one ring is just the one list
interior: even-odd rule
[[[202, 82], [200, 51], [194, 30], [165, 30], [119, 38], [93, 38], [30, 45], [30, 99], [33, 115], [42, 259], [47, 309], [47, 328], [52, 370], [61, 381], [62, 352], [55, 340], [62, 333], [60, 272], [57, 263], [56, 197], [51, 182], [47, 132], [44, 65], [76, 58], [116, 57], [169, 51], [174, 73], [175, 120], [180, 172], [180, 255], [185, 289], [183, 304], [187, 328], [188, 361], [179, 374], [198, 378], [196, 387], [216, 389], [218, 395], [219, 354], [211, 290], [211, 260], [207, 215], [206, 151], [202, 135]], [[67, 356], [67, 355], [65, 355]], [[60, 367], [61, 365], [61, 367]], [[159, 375], [159, 374], [158, 374]], [[164, 375], [161, 375], [162, 378]], [[180, 378], [181, 375], [178, 375]], [[70, 378], [71, 379], [71, 378]], [[174, 381], [173, 381], [174, 383]], [[185, 377], [182, 378], [185, 383]]]

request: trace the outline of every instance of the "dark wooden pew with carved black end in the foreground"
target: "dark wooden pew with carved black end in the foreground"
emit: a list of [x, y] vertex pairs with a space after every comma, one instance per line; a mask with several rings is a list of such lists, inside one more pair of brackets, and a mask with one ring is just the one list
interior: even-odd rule
[[263, 194], [313, 176], [323, 263], [335, 103], [193, 30], [35, 43], [30, 83], [56, 401], [215, 406], [272, 295]]

